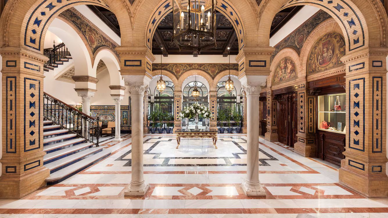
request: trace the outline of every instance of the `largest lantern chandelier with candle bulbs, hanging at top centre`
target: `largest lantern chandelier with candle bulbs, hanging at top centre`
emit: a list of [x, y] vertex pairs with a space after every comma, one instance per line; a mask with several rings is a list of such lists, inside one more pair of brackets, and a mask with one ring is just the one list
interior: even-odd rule
[[197, 57], [202, 50], [217, 45], [215, 2], [217, 0], [173, 0], [172, 40], [179, 50], [193, 51]]

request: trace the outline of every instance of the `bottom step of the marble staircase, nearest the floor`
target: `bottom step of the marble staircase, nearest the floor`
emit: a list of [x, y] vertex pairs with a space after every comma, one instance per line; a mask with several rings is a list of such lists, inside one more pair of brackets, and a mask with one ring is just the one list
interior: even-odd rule
[[81, 161], [78, 161], [77, 164], [72, 164], [68, 167], [65, 167], [61, 170], [51, 173], [49, 178], [46, 179], [47, 185], [54, 185], [59, 182], [62, 182], [63, 180], [69, 178], [70, 176], [80, 172], [81, 170], [84, 170], [88, 166], [91, 166], [92, 164], [97, 163], [101, 159], [104, 159], [110, 154], [111, 152], [105, 149], [97, 154], [94, 154]]

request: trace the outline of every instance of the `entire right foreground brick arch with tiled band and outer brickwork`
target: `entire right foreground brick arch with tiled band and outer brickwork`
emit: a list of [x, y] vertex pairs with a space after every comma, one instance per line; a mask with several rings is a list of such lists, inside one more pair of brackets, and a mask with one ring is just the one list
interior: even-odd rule
[[263, 0], [260, 3], [261, 44], [269, 45], [269, 31], [275, 14], [284, 8], [311, 5], [330, 14], [345, 36], [346, 54], [368, 47], [387, 46], [388, 17], [379, 0]]

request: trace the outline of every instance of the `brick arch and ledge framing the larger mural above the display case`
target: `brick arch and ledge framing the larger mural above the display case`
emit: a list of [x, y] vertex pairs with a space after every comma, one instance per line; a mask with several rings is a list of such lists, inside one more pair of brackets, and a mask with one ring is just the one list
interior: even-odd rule
[[[312, 47], [315, 45], [317, 40], [319, 40], [322, 36], [324, 36], [327, 33], [340, 33], [342, 34], [341, 28], [338, 25], [338, 23], [334, 19], [328, 19], [317, 28], [315, 28], [311, 34], [307, 37], [305, 43], [303, 44], [303, 47], [301, 48], [300, 52], [300, 59], [301, 59], [301, 66], [303, 68], [303, 71], [307, 74], [307, 61], [310, 55], [310, 52], [312, 50]], [[338, 68], [338, 69], [337, 69]], [[345, 73], [345, 65], [335, 67], [334, 69], [329, 69], [328, 71], [317, 73], [312, 76], [306, 75], [308, 78], [322, 78], [325, 76], [331, 76], [335, 73]]]

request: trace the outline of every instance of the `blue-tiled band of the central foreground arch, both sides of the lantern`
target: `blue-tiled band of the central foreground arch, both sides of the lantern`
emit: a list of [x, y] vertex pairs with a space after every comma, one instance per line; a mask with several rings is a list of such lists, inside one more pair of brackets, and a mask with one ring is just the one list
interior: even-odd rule
[[[146, 29], [146, 45], [149, 49], [152, 49], [152, 36], [154, 35], [159, 22], [170, 12], [172, 12], [171, 0], [163, 1], [156, 10], [152, 13], [151, 18], [148, 21]], [[219, 0], [216, 7], [218, 12], [221, 12], [232, 23], [232, 26], [236, 30], [237, 39], [239, 42], [239, 50], [244, 47], [244, 27], [241, 18], [237, 14], [236, 10], [225, 0]]]

